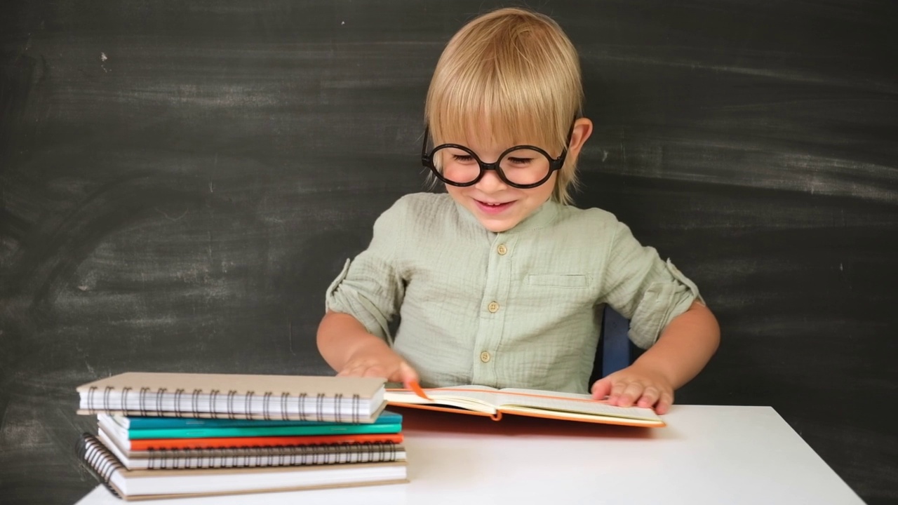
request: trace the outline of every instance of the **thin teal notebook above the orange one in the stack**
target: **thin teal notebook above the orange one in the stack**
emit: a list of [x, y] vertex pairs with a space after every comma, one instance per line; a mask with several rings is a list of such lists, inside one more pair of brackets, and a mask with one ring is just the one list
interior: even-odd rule
[[[359, 435], [399, 433], [402, 430], [400, 414], [381, 415], [373, 423], [353, 424], [348, 422], [317, 421], [248, 421], [242, 425], [217, 425], [216, 421], [234, 422], [239, 420], [208, 419], [201, 426], [182, 425], [180, 428], [125, 428], [106, 414], [97, 416], [100, 426], [111, 429], [130, 440], [139, 439], [217, 439], [223, 437], [277, 437], [312, 435]], [[144, 418], [149, 419], [149, 418]], [[172, 421], [171, 419], [165, 421]], [[181, 419], [180, 421], [186, 421]], [[194, 421], [194, 420], [191, 420]], [[246, 421], [246, 420], [242, 420]], [[141, 421], [143, 422], [143, 421]], [[152, 422], [150, 423], [152, 424]]]

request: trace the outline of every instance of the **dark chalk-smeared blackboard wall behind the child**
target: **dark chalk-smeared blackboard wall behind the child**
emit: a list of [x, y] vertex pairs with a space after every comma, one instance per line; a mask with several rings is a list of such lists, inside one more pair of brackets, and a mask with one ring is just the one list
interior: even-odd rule
[[[898, 502], [893, 4], [535, 4], [582, 55], [578, 204], [676, 261], [722, 323], [678, 400], [774, 406], [870, 503]], [[4, 2], [0, 501], [95, 485], [75, 385], [330, 372], [323, 290], [422, 188], [429, 75], [492, 6]]]

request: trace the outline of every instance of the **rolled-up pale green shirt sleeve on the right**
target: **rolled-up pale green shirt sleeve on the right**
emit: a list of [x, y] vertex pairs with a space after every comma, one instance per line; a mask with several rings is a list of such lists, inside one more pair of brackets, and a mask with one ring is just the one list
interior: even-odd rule
[[618, 223], [604, 271], [605, 301], [629, 319], [629, 339], [648, 349], [674, 317], [692, 302], [704, 304], [699, 288], [653, 247], [643, 246]]

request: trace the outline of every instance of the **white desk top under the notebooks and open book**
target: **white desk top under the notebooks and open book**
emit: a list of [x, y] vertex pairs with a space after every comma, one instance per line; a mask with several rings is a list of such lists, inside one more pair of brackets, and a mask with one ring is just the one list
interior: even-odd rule
[[147, 503], [863, 503], [770, 407], [674, 405], [656, 429], [401, 412], [410, 483]]

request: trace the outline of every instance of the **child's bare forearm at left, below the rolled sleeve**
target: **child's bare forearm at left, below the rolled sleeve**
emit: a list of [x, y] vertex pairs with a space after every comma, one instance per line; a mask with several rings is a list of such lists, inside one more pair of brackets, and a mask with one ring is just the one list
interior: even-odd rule
[[382, 339], [348, 314], [328, 311], [318, 325], [318, 350], [331, 368], [342, 370], [349, 359], [361, 352], [391, 352]]

